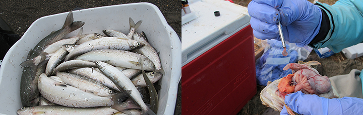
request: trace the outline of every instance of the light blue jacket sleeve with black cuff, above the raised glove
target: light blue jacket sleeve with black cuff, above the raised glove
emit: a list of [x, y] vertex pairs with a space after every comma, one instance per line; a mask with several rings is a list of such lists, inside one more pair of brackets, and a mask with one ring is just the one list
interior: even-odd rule
[[328, 47], [335, 53], [363, 41], [363, 1], [340, 0], [330, 6], [317, 2], [330, 19], [326, 38], [310, 45], [315, 49]]

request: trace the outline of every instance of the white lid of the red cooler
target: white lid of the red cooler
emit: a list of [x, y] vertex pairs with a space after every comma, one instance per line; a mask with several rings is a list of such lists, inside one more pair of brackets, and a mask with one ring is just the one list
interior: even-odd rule
[[[247, 7], [223, 0], [190, 0], [188, 2], [193, 14], [182, 16], [182, 22], [190, 20], [190, 17], [195, 19], [181, 26], [182, 66], [250, 25], [251, 17]], [[219, 11], [220, 16], [215, 17], [215, 11]]]

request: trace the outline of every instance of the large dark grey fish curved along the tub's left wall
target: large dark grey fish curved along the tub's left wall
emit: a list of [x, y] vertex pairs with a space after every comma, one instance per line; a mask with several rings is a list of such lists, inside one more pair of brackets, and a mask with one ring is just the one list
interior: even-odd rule
[[[39, 51], [41, 51], [41, 49], [44, 46], [50, 45], [56, 41], [61, 40], [66, 34], [82, 27], [83, 25], [84, 25], [84, 22], [82, 22], [82, 21], [73, 22], [73, 14], [71, 11], [67, 16], [65, 24], [63, 25], [62, 29], [52, 32], [48, 36], [43, 38], [37, 45], [35, 45], [35, 47], [33, 49], [31, 49], [29, 51], [29, 55], [28, 55], [27, 59], [29, 60], [29, 59], [33, 59], [34, 57], [37, 57], [40, 54]], [[24, 67], [24, 69], [23, 69], [22, 78], [21, 78], [21, 82], [20, 82], [20, 97], [21, 97], [22, 105], [24, 107], [34, 106], [34, 105], [37, 105], [37, 103], [38, 103], [37, 101], [34, 100], [39, 95], [38, 90], [29, 90], [29, 89], [38, 88], [37, 80], [38, 80], [40, 73], [36, 74], [37, 72], [34, 72], [37, 70], [44, 72], [45, 66], [44, 65], [38, 66], [38, 67], [27, 66], [27, 67]], [[43, 73], [43, 72], [41, 72], [41, 73]]]

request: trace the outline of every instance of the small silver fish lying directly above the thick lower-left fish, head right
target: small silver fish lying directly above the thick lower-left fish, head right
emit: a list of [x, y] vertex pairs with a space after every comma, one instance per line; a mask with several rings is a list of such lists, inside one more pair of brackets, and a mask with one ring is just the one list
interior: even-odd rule
[[111, 96], [114, 94], [111, 89], [88, 77], [82, 77], [66, 72], [57, 72], [56, 75], [61, 78], [64, 83], [98, 96]]

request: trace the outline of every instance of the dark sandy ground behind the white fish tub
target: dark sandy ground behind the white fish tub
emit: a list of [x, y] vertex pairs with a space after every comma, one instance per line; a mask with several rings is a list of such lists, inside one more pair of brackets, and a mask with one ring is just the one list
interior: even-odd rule
[[[75, 8], [94, 8], [119, 4], [148, 2], [157, 6], [167, 23], [181, 36], [181, 6], [174, 0], [131, 0], [131, 1], [66, 1], [66, 0], [5, 0], [0, 4], [0, 17], [3, 18], [16, 34], [23, 35], [29, 26], [38, 18], [69, 12]], [[128, 22], [127, 22], [128, 23]], [[180, 89], [180, 87], [179, 87]], [[181, 114], [181, 96], [178, 94], [175, 114]]]

